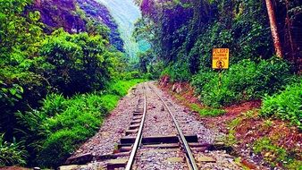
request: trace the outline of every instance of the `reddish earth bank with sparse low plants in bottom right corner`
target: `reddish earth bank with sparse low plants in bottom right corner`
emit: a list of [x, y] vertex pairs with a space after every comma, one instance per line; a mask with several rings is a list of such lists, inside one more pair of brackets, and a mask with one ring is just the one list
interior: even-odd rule
[[[245, 145], [255, 154], [263, 157], [264, 162], [269, 166], [299, 169], [302, 162], [299, 160], [298, 149], [285, 148], [284, 144], [279, 143], [282, 138], [285, 138], [285, 134], [275, 133], [273, 128], [276, 127], [273, 125], [277, 125], [276, 122], [259, 116], [260, 112], [261, 109], [250, 110], [231, 120], [228, 123], [229, 132], [223, 141], [228, 146]], [[247, 142], [249, 140], [252, 141]]]

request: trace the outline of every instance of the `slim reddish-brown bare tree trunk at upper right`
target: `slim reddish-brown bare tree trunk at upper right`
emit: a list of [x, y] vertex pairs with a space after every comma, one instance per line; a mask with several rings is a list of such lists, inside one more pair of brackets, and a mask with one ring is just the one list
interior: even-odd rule
[[266, 3], [268, 18], [270, 20], [270, 26], [271, 26], [271, 30], [272, 30], [273, 46], [276, 50], [276, 55], [278, 57], [283, 57], [281, 42], [280, 42], [280, 38], [279, 38], [279, 35], [278, 35], [276, 17], [275, 17], [274, 11], [273, 11], [272, 0], [265, 0], [265, 3]]

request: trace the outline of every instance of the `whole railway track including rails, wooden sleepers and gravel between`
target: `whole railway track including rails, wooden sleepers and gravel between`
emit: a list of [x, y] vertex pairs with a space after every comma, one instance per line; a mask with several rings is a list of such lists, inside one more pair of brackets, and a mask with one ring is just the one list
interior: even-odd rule
[[[106, 169], [197, 170], [197, 152], [211, 149], [212, 146], [198, 143], [196, 134], [185, 135], [170, 109], [172, 104], [167, 102], [166, 98], [161, 97], [150, 84], [145, 83], [142, 88], [135, 89], [135, 94], [138, 97], [138, 101], [132, 113], [130, 126], [125, 131], [125, 136], [121, 138], [113, 150], [113, 153], [101, 156], [84, 155], [71, 157], [69, 164], [79, 162], [87, 164], [94, 160], [105, 161]], [[157, 101], [155, 98], [157, 98]], [[148, 102], [148, 99], [150, 99], [150, 102]], [[159, 102], [161, 107], [153, 106], [158, 105]], [[152, 115], [151, 110], [155, 108], [160, 108], [160, 113], [158, 114], [157, 110]], [[150, 123], [149, 121], [153, 119], [156, 121]], [[158, 128], [157, 126], [163, 127], [160, 127], [162, 129], [159, 128], [158, 131], [152, 130]], [[164, 132], [161, 132], [162, 130]], [[148, 158], [149, 155], [156, 155], [156, 157]], [[214, 162], [214, 159], [206, 160], [206, 162]]]

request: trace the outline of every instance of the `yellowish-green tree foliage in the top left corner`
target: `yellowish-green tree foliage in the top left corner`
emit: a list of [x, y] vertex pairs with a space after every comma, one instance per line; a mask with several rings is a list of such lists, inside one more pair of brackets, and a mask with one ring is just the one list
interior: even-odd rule
[[0, 1], [0, 66], [20, 64], [27, 55], [34, 55], [44, 37], [38, 22], [39, 13], [24, 14], [31, 0]]

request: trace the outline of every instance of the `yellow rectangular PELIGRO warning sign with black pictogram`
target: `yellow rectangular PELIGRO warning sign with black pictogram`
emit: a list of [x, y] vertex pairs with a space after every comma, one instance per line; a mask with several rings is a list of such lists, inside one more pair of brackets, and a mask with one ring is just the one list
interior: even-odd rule
[[212, 58], [212, 68], [228, 69], [229, 68], [229, 48], [214, 48]]

